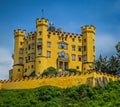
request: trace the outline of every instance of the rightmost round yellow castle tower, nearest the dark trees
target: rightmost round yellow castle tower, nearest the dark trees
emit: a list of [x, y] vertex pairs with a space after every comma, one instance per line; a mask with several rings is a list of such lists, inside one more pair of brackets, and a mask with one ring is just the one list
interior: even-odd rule
[[83, 55], [83, 72], [89, 71], [95, 61], [95, 27], [83, 26], [82, 30], [82, 55]]

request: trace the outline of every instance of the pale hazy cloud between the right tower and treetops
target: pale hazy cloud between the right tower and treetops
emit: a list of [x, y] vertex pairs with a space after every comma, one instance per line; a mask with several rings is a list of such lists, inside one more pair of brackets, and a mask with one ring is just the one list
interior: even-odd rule
[[115, 45], [117, 40], [110, 34], [97, 34], [96, 35], [96, 55], [103, 55], [110, 57], [115, 54]]

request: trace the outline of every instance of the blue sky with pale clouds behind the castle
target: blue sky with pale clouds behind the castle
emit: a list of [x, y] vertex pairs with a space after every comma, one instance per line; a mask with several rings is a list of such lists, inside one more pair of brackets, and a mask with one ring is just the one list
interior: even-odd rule
[[0, 79], [8, 79], [13, 66], [13, 31], [34, 32], [36, 18], [43, 16], [64, 32], [81, 34], [81, 26], [94, 25], [96, 58], [116, 54], [120, 0], [0, 0]]

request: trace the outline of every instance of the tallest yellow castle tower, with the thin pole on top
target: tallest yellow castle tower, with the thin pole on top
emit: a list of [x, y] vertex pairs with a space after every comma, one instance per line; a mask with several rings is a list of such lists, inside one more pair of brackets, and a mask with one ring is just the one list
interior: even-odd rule
[[47, 66], [47, 19], [36, 20], [36, 61], [35, 61], [35, 72], [39, 74], [43, 72]]

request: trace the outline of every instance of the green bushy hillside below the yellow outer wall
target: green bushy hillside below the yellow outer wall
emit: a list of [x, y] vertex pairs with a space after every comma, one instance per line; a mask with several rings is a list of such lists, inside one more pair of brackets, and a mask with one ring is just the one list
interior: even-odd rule
[[120, 107], [120, 81], [95, 88], [81, 85], [67, 89], [44, 86], [2, 90], [0, 107]]

